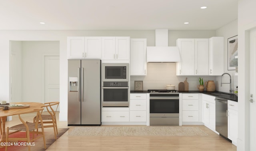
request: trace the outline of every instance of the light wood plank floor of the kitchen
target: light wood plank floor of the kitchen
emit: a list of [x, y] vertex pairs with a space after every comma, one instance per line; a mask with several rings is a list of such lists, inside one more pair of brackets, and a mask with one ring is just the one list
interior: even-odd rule
[[[31, 119], [28, 114], [28, 119]], [[6, 126], [20, 122], [17, 117], [7, 121]], [[58, 119], [58, 118], [57, 118]], [[226, 141], [207, 127], [196, 125], [208, 136], [112, 136], [76, 137], [68, 136], [75, 126], [58, 121], [58, 128], [69, 128], [46, 151], [236, 151], [236, 146]], [[46, 128], [45, 131], [53, 131]]]

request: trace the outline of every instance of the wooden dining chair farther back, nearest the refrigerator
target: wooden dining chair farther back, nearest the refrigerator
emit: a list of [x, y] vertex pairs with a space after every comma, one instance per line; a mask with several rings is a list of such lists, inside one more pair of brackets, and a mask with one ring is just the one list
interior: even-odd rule
[[[56, 135], [58, 134], [57, 121], [56, 121], [56, 111], [58, 109], [59, 104], [60, 104], [60, 102], [56, 101], [56, 102], [44, 103], [44, 106], [42, 106], [42, 107], [46, 107], [46, 109], [48, 111], [48, 114], [42, 114], [41, 115], [43, 123], [44, 123], [44, 128], [53, 127], [55, 139], [57, 139]], [[56, 107], [55, 110], [53, 109], [54, 105]], [[34, 122], [35, 122], [35, 119], [36, 119], [36, 117], [34, 117]]]

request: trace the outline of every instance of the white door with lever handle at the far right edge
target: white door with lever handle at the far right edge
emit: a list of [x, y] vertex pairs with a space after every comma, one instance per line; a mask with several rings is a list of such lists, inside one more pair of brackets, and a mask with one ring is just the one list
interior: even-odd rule
[[[250, 151], [256, 151], [256, 28], [250, 31]], [[239, 92], [239, 87], [238, 87]], [[252, 95], [252, 96], [251, 96]], [[248, 100], [246, 100], [248, 101]]]

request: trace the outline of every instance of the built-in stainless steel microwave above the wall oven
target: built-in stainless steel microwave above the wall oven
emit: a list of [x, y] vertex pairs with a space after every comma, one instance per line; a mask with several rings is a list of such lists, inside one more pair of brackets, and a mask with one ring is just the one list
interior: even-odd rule
[[102, 64], [102, 81], [129, 81], [129, 64], [104, 63]]

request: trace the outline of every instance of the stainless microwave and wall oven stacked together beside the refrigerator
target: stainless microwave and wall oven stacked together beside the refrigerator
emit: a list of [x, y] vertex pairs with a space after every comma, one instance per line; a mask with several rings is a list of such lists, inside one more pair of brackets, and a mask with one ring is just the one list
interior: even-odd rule
[[102, 107], [129, 107], [129, 64], [102, 64]]

